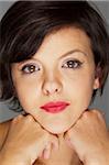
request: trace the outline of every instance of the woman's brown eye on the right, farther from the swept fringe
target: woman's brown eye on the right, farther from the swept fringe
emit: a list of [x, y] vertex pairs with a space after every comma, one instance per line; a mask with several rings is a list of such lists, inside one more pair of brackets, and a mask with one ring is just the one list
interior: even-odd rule
[[74, 61], [67, 61], [65, 64], [63, 64], [62, 67], [76, 69], [79, 68], [81, 64], [83, 64], [81, 62], [74, 59]]

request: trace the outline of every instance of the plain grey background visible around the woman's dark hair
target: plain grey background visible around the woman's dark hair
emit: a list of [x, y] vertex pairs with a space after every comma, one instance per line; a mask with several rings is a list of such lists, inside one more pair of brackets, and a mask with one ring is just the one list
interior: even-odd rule
[[[7, 11], [7, 9], [13, 3], [13, 1], [0, 1], [0, 19]], [[108, 24], [109, 24], [109, 2], [108, 1], [95, 1], [92, 3], [96, 3], [99, 10], [101, 11], [102, 15], [106, 18]], [[102, 97], [98, 96], [96, 97], [94, 103], [91, 105], [91, 108], [97, 108], [102, 111], [105, 114], [107, 124], [109, 125], [109, 78], [105, 87], [105, 92]], [[19, 113], [13, 112], [8, 109], [4, 102], [0, 102], [0, 122], [7, 121]]]

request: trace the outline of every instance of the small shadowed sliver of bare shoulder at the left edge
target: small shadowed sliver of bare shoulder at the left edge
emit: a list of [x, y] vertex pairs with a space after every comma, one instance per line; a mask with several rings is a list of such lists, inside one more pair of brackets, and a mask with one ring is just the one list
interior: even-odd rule
[[11, 120], [0, 123], [0, 148], [2, 147], [2, 144], [7, 138], [10, 123]]

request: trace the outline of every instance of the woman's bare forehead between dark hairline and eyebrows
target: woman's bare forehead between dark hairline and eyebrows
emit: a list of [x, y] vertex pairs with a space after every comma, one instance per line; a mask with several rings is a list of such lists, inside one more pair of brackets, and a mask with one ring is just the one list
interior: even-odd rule
[[41, 47], [34, 57], [45, 58], [61, 56], [69, 51], [80, 50], [86, 54], [92, 54], [90, 38], [77, 28], [63, 28], [45, 36]]

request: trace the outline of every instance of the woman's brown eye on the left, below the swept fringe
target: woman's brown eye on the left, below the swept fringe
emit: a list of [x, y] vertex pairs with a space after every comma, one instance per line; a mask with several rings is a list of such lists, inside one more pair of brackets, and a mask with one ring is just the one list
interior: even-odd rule
[[33, 64], [26, 64], [22, 67], [22, 72], [24, 74], [32, 74], [34, 72], [39, 72], [40, 70], [40, 67], [39, 65], [33, 65]]

